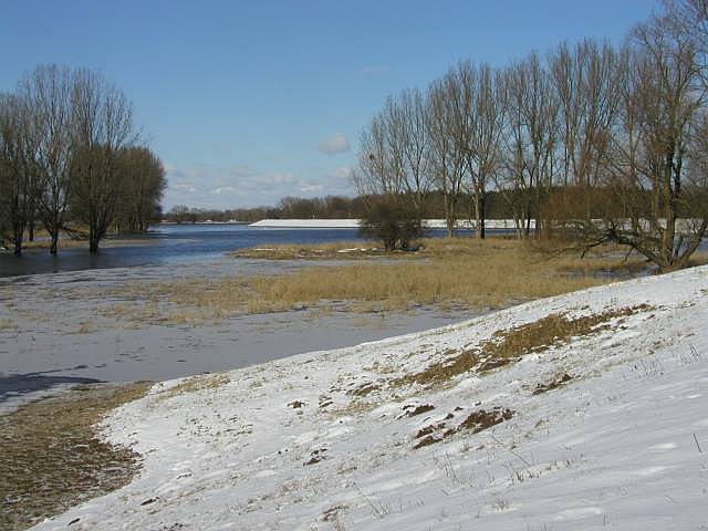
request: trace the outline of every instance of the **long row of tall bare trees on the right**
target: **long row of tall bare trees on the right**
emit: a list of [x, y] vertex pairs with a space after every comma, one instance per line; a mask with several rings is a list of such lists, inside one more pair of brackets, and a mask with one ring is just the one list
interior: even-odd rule
[[468, 219], [483, 238], [493, 189], [520, 237], [561, 230], [684, 266], [708, 219], [707, 6], [666, 1], [622, 46], [465, 61], [389, 97], [361, 135], [358, 194], [406, 223], [441, 194], [449, 233]]

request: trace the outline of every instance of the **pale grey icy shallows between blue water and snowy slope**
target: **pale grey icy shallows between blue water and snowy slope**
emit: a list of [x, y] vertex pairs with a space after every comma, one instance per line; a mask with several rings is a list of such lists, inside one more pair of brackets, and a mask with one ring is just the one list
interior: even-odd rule
[[[242, 260], [239, 274], [284, 273], [303, 267], [308, 264]], [[230, 274], [233, 261], [223, 258], [185, 266], [42, 273], [0, 282], [0, 304], [6, 308], [0, 312], [0, 402], [12, 391], [12, 379], [23, 375], [27, 387], [38, 378], [48, 383], [51, 378], [164, 381], [355, 345], [473, 315], [466, 310], [426, 308], [385, 313], [332, 308], [181, 323], [165, 323], [155, 315], [134, 323], [129, 312], [152, 312], [153, 303], [147, 300], [134, 308], [129, 291], [114, 293], [175, 275], [190, 281]]]

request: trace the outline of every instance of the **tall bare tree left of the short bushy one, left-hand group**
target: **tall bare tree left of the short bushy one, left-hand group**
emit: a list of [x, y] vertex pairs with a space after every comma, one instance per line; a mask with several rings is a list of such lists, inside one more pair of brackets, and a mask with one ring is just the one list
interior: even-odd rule
[[72, 214], [88, 226], [88, 249], [98, 250], [116, 215], [118, 155], [134, 144], [133, 108], [102, 74], [74, 73], [72, 83]]

